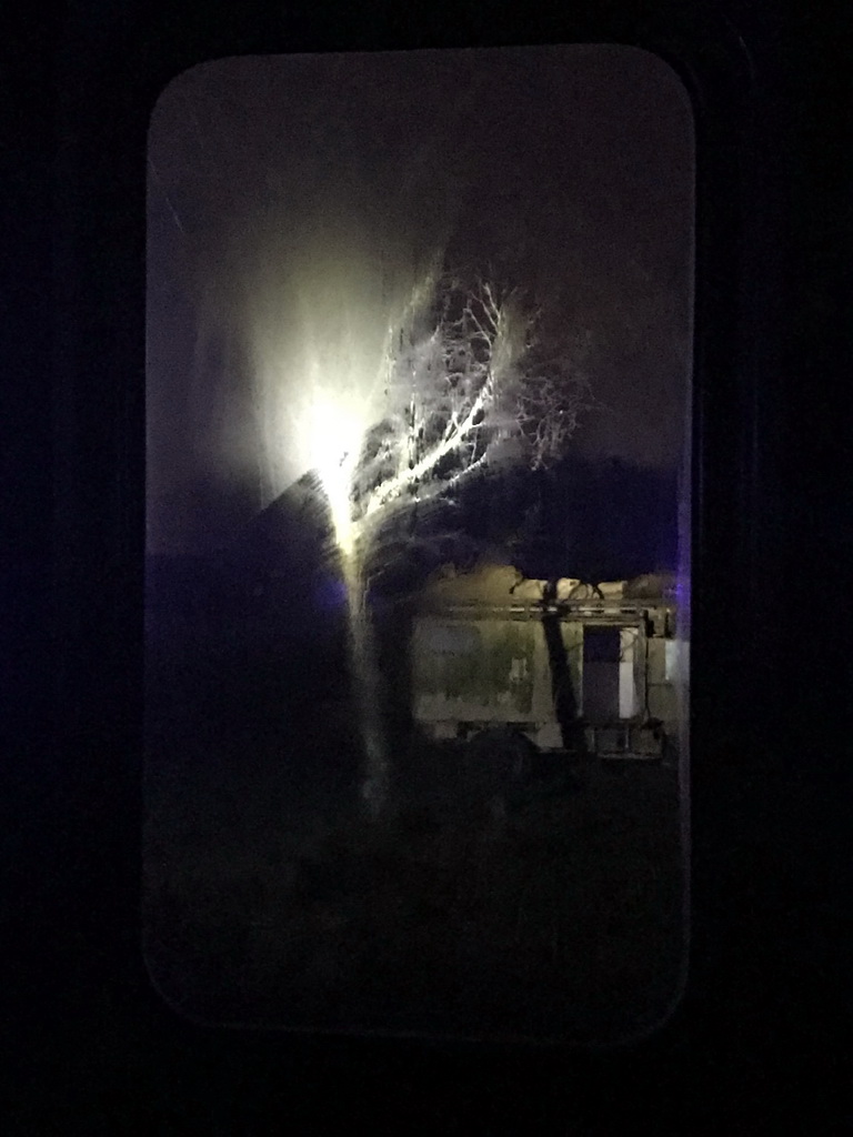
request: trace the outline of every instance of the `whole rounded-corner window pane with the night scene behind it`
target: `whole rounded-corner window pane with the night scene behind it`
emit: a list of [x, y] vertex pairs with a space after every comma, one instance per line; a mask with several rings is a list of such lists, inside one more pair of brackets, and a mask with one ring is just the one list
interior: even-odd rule
[[598, 1043], [677, 1003], [693, 146], [607, 45], [160, 94], [143, 940], [180, 1013]]

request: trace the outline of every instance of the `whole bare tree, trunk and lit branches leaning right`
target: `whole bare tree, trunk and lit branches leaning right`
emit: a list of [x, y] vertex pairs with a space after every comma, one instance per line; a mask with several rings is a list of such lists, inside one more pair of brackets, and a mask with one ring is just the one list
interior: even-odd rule
[[596, 406], [585, 340], [546, 337], [541, 310], [519, 290], [454, 275], [431, 283], [407, 326], [389, 331], [384, 417], [357, 440], [341, 433], [321, 471], [347, 578], [367, 761], [362, 794], [374, 816], [387, 799], [389, 760], [366, 592], [389, 522], [447, 501], [486, 467], [547, 466]]

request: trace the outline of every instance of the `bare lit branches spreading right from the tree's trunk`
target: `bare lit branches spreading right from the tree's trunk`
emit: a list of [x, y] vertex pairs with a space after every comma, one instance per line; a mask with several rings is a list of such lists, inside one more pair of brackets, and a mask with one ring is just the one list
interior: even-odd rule
[[488, 281], [438, 282], [430, 310], [399, 329], [388, 360], [388, 413], [366, 435], [351, 479], [365, 537], [400, 507], [447, 495], [486, 466], [547, 466], [596, 400], [586, 339], [548, 343], [543, 313]]

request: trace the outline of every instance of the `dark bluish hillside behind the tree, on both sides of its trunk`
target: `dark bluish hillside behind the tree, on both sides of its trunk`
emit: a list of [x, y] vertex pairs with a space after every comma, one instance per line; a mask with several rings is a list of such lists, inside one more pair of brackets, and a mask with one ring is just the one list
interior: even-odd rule
[[[465, 572], [489, 561], [528, 578], [630, 580], [677, 567], [674, 472], [569, 458], [546, 474], [514, 471], [464, 485], [452, 504], [398, 515], [370, 565], [376, 598], [416, 591], [441, 566]], [[163, 558], [160, 558], [163, 561]], [[209, 557], [168, 558], [166, 595], [198, 608], [291, 632], [342, 609], [340, 562], [322, 487], [308, 473]], [[162, 589], [162, 590], [163, 590]], [[242, 615], [240, 615], [242, 613]], [[278, 631], [276, 631], [278, 634]]]

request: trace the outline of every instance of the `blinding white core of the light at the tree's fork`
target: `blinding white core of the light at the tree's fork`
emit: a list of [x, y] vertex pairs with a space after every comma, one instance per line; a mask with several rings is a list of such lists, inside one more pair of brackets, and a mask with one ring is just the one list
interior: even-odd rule
[[317, 472], [334, 525], [334, 537], [346, 556], [355, 547], [350, 492], [353, 474], [364, 437], [362, 415], [347, 400], [317, 396], [308, 416], [307, 446], [310, 466]]

